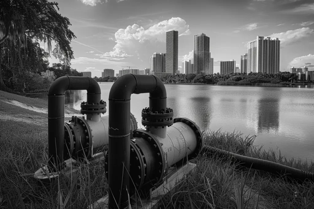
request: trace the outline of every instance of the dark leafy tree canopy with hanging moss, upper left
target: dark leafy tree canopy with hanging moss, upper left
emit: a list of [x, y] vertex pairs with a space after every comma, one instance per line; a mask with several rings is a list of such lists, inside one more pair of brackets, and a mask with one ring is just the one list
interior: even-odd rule
[[[69, 29], [69, 19], [58, 10], [58, 3], [47, 0], [2, 1], [0, 86], [9, 85], [10, 79], [26, 71], [40, 74], [48, 70], [47, 57], [51, 54], [62, 65], [70, 65], [70, 60], [74, 59], [70, 42], [76, 37]], [[52, 41], [56, 43], [53, 50]], [[39, 42], [47, 44], [46, 51]]]

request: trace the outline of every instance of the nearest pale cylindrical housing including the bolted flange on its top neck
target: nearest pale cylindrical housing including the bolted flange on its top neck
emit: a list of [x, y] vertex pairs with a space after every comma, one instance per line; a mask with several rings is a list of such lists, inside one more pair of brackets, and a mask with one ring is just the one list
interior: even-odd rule
[[[132, 119], [132, 117], [131, 117]], [[173, 119], [173, 110], [160, 112], [142, 110], [144, 129], [131, 130], [130, 139], [130, 196], [139, 191], [148, 197], [149, 190], [157, 188], [167, 175], [169, 167], [182, 165], [194, 159], [203, 148], [199, 127], [187, 118]], [[168, 127], [168, 128], [167, 128]], [[154, 133], [151, 133], [151, 129]], [[108, 156], [105, 157], [105, 173], [108, 179]]]

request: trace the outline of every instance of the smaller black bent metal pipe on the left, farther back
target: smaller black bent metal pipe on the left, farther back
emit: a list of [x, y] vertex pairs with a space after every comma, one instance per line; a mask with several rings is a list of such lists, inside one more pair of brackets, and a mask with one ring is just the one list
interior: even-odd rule
[[[87, 90], [87, 102], [100, 102], [100, 86], [92, 78], [62, 76], [57, 78], [48, 91], [48, 157], [53, 170], [63, 169], [64, 149], [64, 92], [67, 90]], [[130, 120], [130, 119], [129, 119]]]

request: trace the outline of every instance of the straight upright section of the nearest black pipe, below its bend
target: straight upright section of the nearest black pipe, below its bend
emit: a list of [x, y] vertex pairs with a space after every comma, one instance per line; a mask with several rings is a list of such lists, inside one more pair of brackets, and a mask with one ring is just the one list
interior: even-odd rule
[[[128, 206], [130, 172], [130, 99], [109, 100], [109, 207]], [[114, 120], [113, 118], [119, 118]], [[113, 189], [115, 188], [115, 189]]]

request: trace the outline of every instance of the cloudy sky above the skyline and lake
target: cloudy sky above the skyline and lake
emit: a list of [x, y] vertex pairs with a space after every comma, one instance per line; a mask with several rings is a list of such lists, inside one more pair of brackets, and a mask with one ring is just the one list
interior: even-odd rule
[[[314, 70], [313, 0], [54, 0], [69, 18], [71, 67], [101, 76], [103, 69], [149, 68], [154, 52], [165, 53], [166, 32], [179, 31], [179, 59], [193, 63], [193, 35], [210, 37], [214, 73], [220, 60], [247, 53], [257, 36], [279, 38], [280, 71]], [[41, 43], [47, 49], [47, 45]], [[52, 44], [54, 47], [54, 44]], [[50, 65], [59, 62], [52, 55]]]

